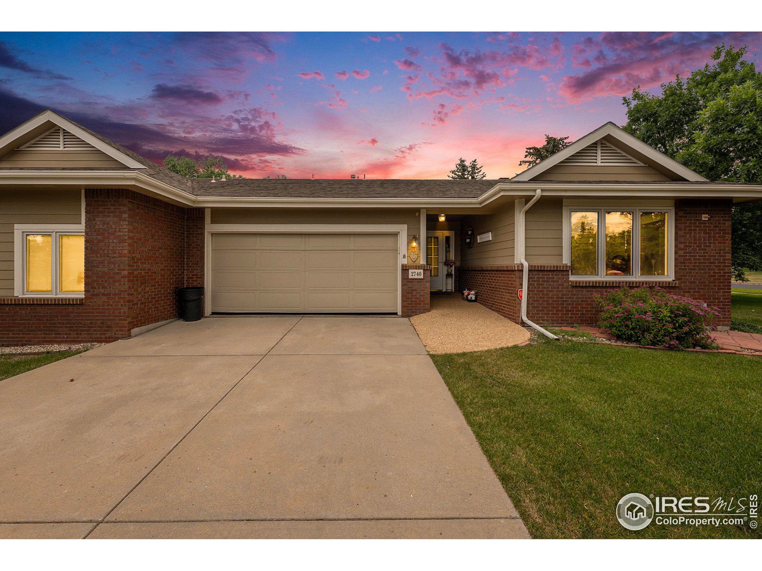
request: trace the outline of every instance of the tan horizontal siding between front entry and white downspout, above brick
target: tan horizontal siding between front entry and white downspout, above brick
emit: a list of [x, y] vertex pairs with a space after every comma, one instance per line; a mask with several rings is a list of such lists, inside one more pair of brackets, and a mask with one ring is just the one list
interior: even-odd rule
[[[499, 266], [514, 263], [514, 203], [508, 203], [486, 216], [475, 216], [460, 225], [460, 265]], [[474, 229], [474, 245], [466, 247], [463, 234], [466, 228]], [[479, 244], [476, 236], [492, 233], [492, 239]]]

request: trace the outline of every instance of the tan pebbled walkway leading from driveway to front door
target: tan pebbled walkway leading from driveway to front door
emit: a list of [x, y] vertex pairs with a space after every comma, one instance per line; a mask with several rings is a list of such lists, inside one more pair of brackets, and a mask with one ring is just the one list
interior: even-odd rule
[[529, 340], [529, 333], [520, 325], [454, 293], [432, 294], [431, 311], [410, 321], [431, 353], [484, 351]]

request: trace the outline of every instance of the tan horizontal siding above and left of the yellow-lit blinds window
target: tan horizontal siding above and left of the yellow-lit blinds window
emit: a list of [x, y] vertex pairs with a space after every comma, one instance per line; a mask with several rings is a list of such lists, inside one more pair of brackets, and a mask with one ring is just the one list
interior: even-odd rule
[[0, 190], [0, 297], [14, 294], [15, 224], [82, 224], [82, 191]]

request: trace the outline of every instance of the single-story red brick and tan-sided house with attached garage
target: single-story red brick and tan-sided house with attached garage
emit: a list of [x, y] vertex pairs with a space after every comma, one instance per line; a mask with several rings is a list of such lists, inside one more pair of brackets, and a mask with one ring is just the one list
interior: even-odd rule
[[728, 326], [731, 208], [758, 199], [613, 123], [498, 180], [189, 180], [46, 110], [0, 138], [0, 344], [130, 337], [183, 285], [206, 314], [410, 316], [468, 288], [513, 321], [523, 286], [557, 325], [652, 285]]

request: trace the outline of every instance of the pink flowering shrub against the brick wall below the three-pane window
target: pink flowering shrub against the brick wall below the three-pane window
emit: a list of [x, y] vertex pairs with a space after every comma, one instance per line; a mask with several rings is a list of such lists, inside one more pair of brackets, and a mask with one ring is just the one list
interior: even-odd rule
[[617, 339], [669, 349], [706, 349], [713, 344], [708, 330], [719, 311], [703, 301], [648, 287], [623, 287], [597, 300], [600, 327]]

